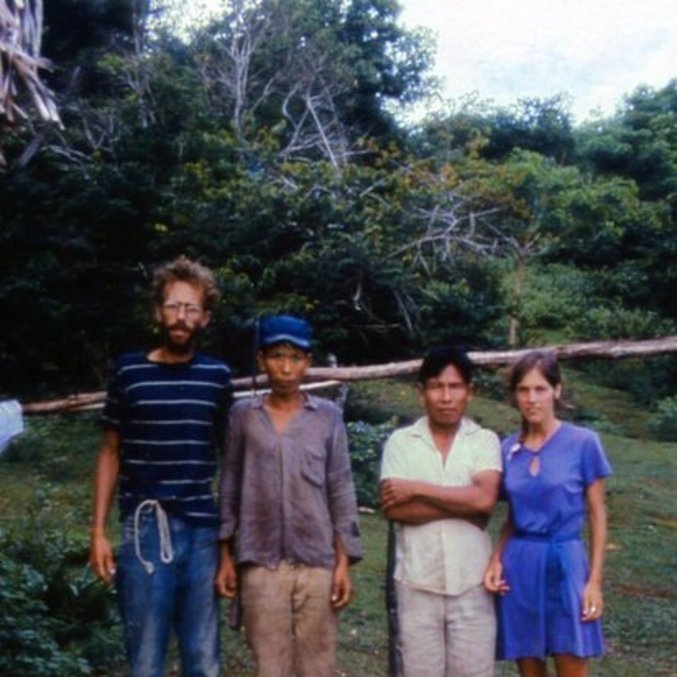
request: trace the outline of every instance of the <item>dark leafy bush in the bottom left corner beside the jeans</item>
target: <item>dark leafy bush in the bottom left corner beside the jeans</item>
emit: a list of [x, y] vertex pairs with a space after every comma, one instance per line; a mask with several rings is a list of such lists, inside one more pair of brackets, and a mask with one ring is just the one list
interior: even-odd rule
[[0, 532], [0, 674], [89, 675], [121, 659], [113, 592], [87, 546], [30, 515]]

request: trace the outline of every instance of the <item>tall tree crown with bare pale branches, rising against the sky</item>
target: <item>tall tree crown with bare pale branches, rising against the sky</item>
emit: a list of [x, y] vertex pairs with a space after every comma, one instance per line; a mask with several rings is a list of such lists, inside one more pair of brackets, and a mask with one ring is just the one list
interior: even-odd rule
[[430, 52], [393, 0], [240, 1], [195, 40], [212, 111], [249, 146], [273, 132], [283, 159], [337, 169], [356, 139], [395, 131], [387, 101], [421, 94]]

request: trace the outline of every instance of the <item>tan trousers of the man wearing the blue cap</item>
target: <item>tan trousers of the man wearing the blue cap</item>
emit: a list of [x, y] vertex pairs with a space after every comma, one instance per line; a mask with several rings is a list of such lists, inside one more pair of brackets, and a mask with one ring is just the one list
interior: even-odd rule
[[330, 677], [336, 659], [333, 572], [281, 562], [245, 568], [242, 607], [258, 677]]

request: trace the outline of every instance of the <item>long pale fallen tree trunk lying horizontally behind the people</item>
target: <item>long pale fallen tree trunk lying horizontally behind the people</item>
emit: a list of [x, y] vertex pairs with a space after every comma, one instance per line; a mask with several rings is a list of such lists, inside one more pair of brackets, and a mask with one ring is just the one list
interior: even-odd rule
[[[653, 357], [677, 353], [677, 336], [666, 336], [660, 339], [647, 341], [594, 341], [591, 343], [569, 343], [564, 345], [544, 346], [540, 350], [550, 350], [557, 354], [560, 360], [603, 359], [616, 360], [631, 357]], [[469, 352], [470, 358], [480, 367], [502, 367], [514, 362], [518, 357], [536, 348], [520, 350], [503, 350], [487, 352]], [[314, 383], [314, 387], [328, 387], [340, 382], [370, 381], [382, 378], [395, 378], [415, 374], [421, 365], [421, 360], [407, 360], [405, 362], [391, 362], [389, 364], [370, 365], [364, 367], [312, 367], [308, 371], [307, 381]], [[329, 383], [322, 383], [329, 381]], [[318, 383], [320, 382], [320, 383]], [[265, 376], [256, 379], [256, 386], [265, 387]], [[247, 395], [252, 389], [252, 379], [233, 379], [233, 386], [242, 395]], [[242, 392], [244, 391], [244, 392]], [[105, 391], [71, 395], [65, 399], [50, 400], [23, 404], [24, 414], [48, 414], [65, 411], [83, 411], [99, 408], [106, 397]]]

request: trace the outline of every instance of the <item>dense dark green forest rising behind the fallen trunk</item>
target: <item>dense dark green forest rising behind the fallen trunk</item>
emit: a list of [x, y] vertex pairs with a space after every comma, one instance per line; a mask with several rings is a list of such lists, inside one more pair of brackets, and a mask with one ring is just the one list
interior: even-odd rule
[[[231, 7], [179, 37], [152, 1], [45, 3], [62, 125], [0, 117], [0, 396], [101, 387], [179, 254], [240, 374], [270, 311], [346, 364], [677, 333], [677, 80], [582, 125], [565, 96], [411, 122], [432, 44], [396, 0]], [[677, 365], [602, 376], [656, 403]]]

